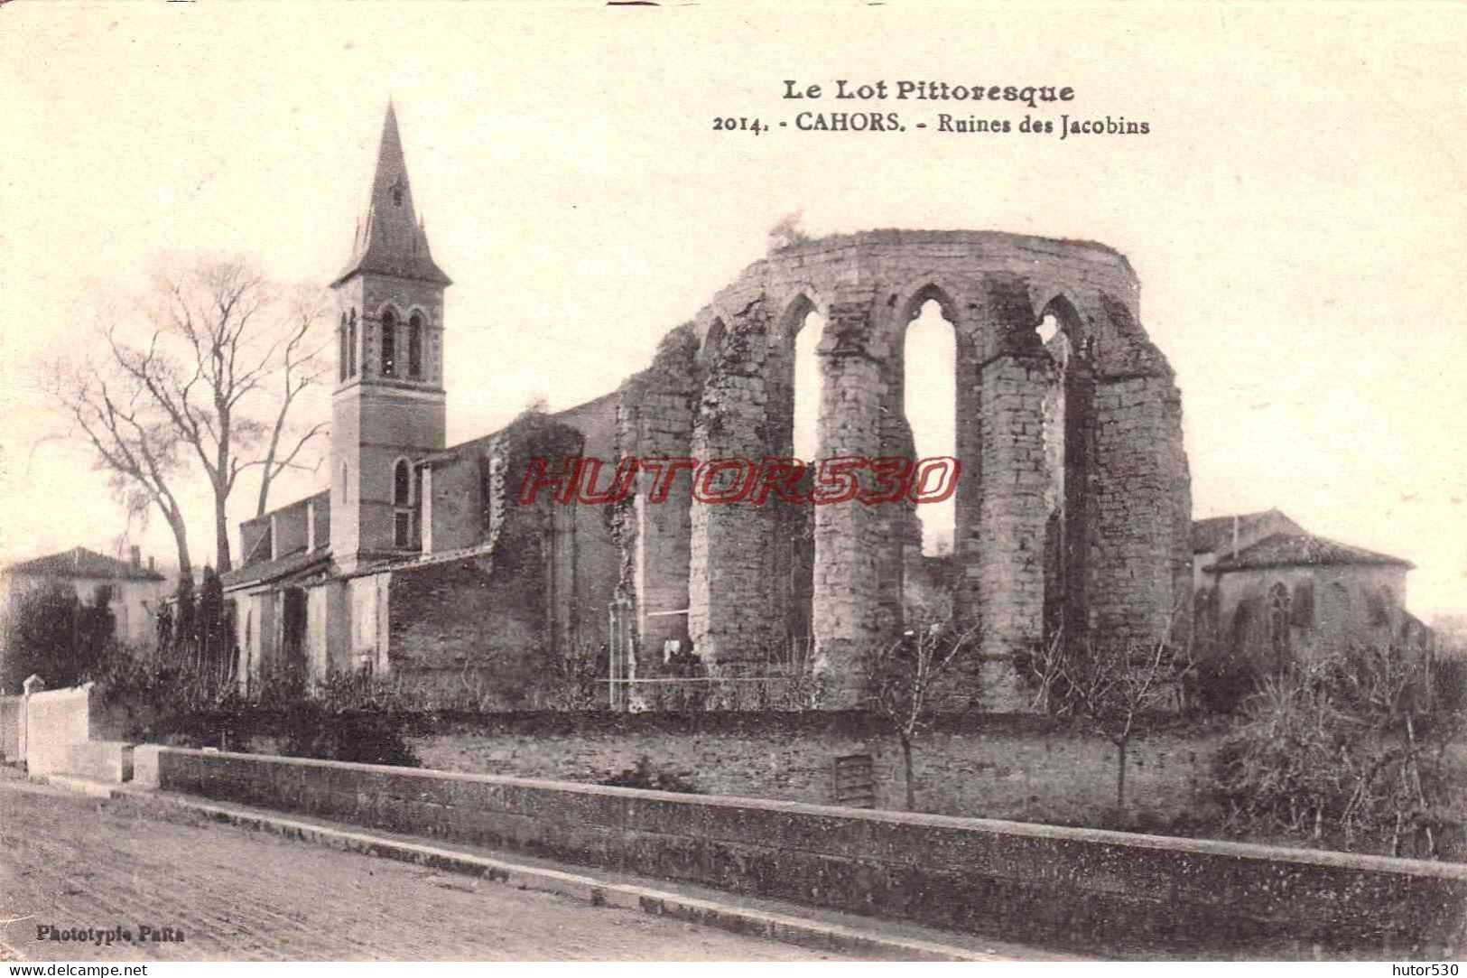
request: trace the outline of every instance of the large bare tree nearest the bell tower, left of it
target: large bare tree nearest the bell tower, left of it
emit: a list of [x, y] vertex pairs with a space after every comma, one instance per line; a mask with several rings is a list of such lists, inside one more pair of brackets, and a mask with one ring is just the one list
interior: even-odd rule
[[[226, 507], [239, 476], [261, 468], [263, 512], [273, 480], [305, 467], [301, 452], [324, 432], [321, 423], [299, 438], [286, 435], [292, 407], [324, 370], [326, 341], [315, 329], [324, 305], [285, 295], [245, 261], [197, 261], [157, 276], [147, 314], [145, 344], [131, 345], [122, 329], [109, 329], [111, 358], [204, 470], [223, 573], [233, 565]], [[271, 391], [273, 410], [261, 404]]]

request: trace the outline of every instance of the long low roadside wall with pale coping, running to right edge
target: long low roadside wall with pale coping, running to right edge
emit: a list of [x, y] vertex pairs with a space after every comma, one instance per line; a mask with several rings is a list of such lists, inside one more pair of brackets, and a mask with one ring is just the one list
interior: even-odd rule
[[1467, 866], [145, 746], [136, 780], [1087, 953], [1451, 953]]

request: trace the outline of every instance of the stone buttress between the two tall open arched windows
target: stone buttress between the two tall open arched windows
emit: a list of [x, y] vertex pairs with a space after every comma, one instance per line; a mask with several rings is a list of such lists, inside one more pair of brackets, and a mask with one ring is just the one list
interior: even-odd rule
[[[820, 344], [824, 458], [880, 454], [886, 392], [880, 363], [867, 352], [873, 326], [870, 303], [832, 303]], [[885, 637], [879, 510], [855, 501], [816, 507], [816, 670], [826, 677], [830, 709], [858, 703], [861, 656]]]

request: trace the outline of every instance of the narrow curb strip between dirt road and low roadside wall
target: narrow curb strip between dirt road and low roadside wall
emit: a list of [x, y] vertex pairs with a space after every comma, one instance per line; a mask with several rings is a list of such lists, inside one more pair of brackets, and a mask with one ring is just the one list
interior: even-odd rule
[[1008, 960], [1000, 955], [986, 955], [965, 947], [937, 944], [932, 941], [885, 937], [863, 932], [838, 924], [826, 924], [785, 913], [770, 913], [750, 908], [688, 897], [679, 893], [651, 890], [647, 887], [607, 883], [559, 869], [527, 866], [503, 862], [487, 856], [439, 849], [418, 843], [383, 838], [361, 831], [329, 828], [289, 818], [245, 812], [213, 802], [156, 793], [129, 784], [106, 787], [113, 797], [151, 800], [185, 808], [205, 815], [217, 822], [267, 831], [283, 838], [330, 846], [343, 852], [355, 852], [381, 859], [411, 862], [433, 869], [475, 877], [477, 881], [500, 883], [519, 890], [538, 890], [582, 900], [591, 906], [610, 906], [640, 910], [654, 916], [670, 916], [689, 924], [714, 927], [734, 934], [764, 937], [786, 944], [829, 950], [886, 960]]

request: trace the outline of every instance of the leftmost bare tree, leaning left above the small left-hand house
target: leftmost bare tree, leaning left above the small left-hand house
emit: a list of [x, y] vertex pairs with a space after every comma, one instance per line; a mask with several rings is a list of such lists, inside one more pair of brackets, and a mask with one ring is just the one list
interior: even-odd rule
[[94, 464], [107, 473], [109, 488], [129, 520], [147, 520], [156, 507], [167, 520], [178, 546], [179, 574], [191, 577], [188, 530], [175, 493], [180, 479], [180, 441], [135, 379], [116, 364], [54, 363], [44, 386], [65, 420], [66, 436], [91, 446]]

